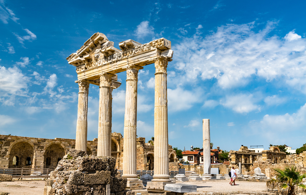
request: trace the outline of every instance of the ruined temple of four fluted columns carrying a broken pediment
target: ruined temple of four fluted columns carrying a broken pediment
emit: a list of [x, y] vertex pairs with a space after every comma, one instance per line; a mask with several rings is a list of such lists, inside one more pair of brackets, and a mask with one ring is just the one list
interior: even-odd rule
[[[154, 107], [154, 163], [155, 171], [148, 190], [162, 188], [171, 182], [168, 164], [168, 107], [167, 65], [172, 61], [171, 42], [160, 38], [141, 44], [131, 39], [120, 42], [119, 48], [102, 33], [95, 33], [79, 50], [66, 59], [76, 67], [79, 85], [78, 117], [76, 124], [76, 150], [86, 151], [88, 87], [98, 85], [99, 121], [98, 156], [111, 156], [112, 91], [118, 88], [117, 73], [126, 71], [125, 117], [123, 145], [123, 175], [128, 179], [127, 189], [141, 181], [136, 175], [136, 121], [138, 71], [144, 66], [155, 64], [155, 107]], [[157, 183], [158, 182], [158, 183]], [[140, 186], [141, 189], [142, 186]], [[162, 190], [163, 191], [163, 190]]]

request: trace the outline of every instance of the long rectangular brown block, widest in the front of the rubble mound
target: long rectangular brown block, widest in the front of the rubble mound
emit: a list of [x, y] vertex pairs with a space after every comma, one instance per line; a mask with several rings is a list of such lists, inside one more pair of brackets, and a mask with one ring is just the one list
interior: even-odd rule
[[84, 173], [84, 185], [110, 184], [110, 177], [110, 171], [94, 171], [89, 174]]

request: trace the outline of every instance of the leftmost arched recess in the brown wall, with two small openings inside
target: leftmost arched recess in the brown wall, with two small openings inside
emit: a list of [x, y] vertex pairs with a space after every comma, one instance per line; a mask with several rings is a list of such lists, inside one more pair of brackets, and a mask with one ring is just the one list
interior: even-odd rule
[[[9, 146], [9, 168], [32, 168], [34, 159], [34, 144], [26, 139], [19, 139]], [[18, 164], [13, 165], [14, 157]]]

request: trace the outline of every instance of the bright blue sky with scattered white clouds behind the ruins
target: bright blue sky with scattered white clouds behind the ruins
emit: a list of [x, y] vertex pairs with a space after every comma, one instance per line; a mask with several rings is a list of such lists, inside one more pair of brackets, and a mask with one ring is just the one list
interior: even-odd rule
[[[75, 139], [78, 85], [66, 61], [96, 32], [118, 43], [164, 37], [169, 144], [202, 146], [202, 119], [223, 150], [302, 146], [306, 127], [306, 2], [0, 0], [0, 134]], [[154, 65], [139, 72], [137, 135], [154, 136]], [[125, 72], [113, 91], [123, 134]], [[90, 86], [88, 140], [98, 134]], [[215, 148], [214, 147], [214, 148]]]

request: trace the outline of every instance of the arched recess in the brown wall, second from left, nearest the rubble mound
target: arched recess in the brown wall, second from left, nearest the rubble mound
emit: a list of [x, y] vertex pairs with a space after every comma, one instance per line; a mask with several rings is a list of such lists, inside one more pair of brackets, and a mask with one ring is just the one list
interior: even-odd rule
[[63, 159], [66, 154], [65, 146], [59, 142], [52, 142], [45, 147], [43, 154], [44, 168], [55, 169], [58, 161]]

